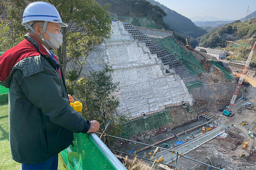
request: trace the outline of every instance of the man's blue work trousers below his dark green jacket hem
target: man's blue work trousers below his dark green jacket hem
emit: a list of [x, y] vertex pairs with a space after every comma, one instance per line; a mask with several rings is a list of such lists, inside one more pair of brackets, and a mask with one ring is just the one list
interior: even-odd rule
[[57, 170], [58, 169], [58, 155], [48, 159], [40, 164], [22, 164], [22, 170]]

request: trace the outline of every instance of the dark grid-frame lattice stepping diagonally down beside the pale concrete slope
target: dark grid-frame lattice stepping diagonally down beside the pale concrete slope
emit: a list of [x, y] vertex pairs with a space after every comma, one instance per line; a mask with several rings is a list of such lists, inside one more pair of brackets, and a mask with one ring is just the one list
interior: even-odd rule
[[136, 41], [145, 43], [149, 48], [151, 54], [156, 54], [157, 58], [160, 58], [164, 65], [169, 65], [169, 69], [174, 69], [176, 74], [179, 74], [181, 78], [191, 76], [188, 69], [177, 60], [169, 51], [163, 49], [158, 44], [154, 43], [148, 35], [140, 32], [129, 22], [123, 22], [124, 29], [128, 31], [129, 35]]

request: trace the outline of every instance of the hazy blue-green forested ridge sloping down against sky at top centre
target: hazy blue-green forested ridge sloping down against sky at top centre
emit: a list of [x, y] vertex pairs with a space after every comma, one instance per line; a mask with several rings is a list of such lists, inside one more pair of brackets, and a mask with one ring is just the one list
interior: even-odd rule
[[164, 12], [167, 14], [166, 17], [164, 17], [164, 22], [166, 24], [169, 24], [169, 26], [177, 33], [189, 35], [193, 38], [197, 38], [199, 36], [202, 36], [207, 33], [206, 30], [204, 30], [201, 27], [196, 26], [190, 19], [187, 17], [179, 14], [176, 11], [173, 11], [163, 4], [160, 4], [159, 2], [156, 2], [154, 0], [148, 0], [151, 4], [157, 5]]

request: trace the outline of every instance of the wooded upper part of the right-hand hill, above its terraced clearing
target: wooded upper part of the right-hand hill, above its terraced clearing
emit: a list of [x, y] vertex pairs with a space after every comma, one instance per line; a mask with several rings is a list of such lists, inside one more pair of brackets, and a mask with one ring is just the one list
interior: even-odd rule
[[246, 44], [251, 45], [256, 40], [256, 19], [250, 19], [247, 22], [236, 20], [202, 37], [198, 37], [197, 40], [199, 41], [199, 46], [211, 48], [225, 48], [227, 46], [226, 40], [247, 40]]

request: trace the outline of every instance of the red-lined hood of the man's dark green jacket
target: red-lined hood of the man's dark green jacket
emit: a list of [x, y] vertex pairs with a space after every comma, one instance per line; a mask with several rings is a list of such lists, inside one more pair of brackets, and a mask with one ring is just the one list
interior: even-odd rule
[[22, 40], [15, 47], [5, 51], [0, 56], [0, 81], [3, 83], [10, 75], [13, 66], [20, 60], [32, 56], [39, 56], [41, 54], [49, 56], [43, 45], [32, 38], [29, 34], [24, 36]]

